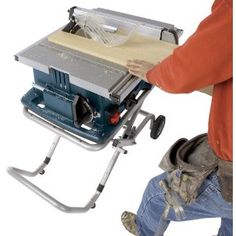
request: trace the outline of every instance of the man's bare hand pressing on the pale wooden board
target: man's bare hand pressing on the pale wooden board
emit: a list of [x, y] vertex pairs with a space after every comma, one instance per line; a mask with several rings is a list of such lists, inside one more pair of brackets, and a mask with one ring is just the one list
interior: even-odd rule
[[126, 65], [130, 74], [135, 75], [146, 82], [148, 82], [146, 74], [154, 66], [155, 65], [150, 62], [142, 60], [128, 60]]

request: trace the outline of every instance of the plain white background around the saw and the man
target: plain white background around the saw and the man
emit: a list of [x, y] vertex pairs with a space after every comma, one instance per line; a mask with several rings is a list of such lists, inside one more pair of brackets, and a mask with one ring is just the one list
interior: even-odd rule
[[[6, 173], [14, 165], [34, 169], [43, 161], [54, 137], [22, 114], [21, 96], [31, 87], [32, 69], [14, 61], [14, 54], [67, 23], [72, 6], [102, 7], [175, 24], [184, 29], [183, 43], [201, 19], [210, 13], [212, 0], [155, 1], [7, 1], [1, 3], [1, 210], [0, 235], [129, 235], [120, 222], [123, 210], [136, 212], [148, 180], [161, 173], [158, 163], [178, 138], [207, 132], [210, 97], [198, 92], [171, 95], [158, 89], [143, 109], [167, 118], [161, 137], [154, 141], [145, 130], [137, 145], [121, 155], [97, 207], [86, 214], [62, 213]], [[107, 147], [88, 152], [62, 140], [46, 174], [35, 182], [68, 205], [83, 205], [97, 187], [112, 155]], [[217, 233], [219, 219], [171, 223], [166, 235]]]

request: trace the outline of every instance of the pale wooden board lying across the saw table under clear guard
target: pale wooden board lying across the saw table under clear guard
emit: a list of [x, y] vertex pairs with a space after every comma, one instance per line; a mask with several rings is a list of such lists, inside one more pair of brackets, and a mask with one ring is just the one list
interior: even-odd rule
[[109, 48], [91, 39], [61, 30], [51, 34], [48, 40], [123, 66], [129, 59], [140, 59], [157, 64], [177, 47], [175, 44], [134, 35], [125, 44]]

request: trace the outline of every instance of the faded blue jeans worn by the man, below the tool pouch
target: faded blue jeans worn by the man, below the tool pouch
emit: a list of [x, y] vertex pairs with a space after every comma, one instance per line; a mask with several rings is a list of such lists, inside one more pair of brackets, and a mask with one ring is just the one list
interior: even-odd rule
[[[140, 236], [161, 236], [170, 221], [177, 221], [172, 208], [167, 219], [162, 218], [166, 206], [164, 191], [158, 184], [162, 179], [166, 179], [166, 173], [151, 179], [144, 192], [136, 218]], [[214, 172], [203, 182], [196, 201], [190, 205], [183, 205], [186, 216], [184, 220], [221, 217], [218, 236], [231, 236], [232, 203], [222, 198], [219, 189], [217, 175]]]

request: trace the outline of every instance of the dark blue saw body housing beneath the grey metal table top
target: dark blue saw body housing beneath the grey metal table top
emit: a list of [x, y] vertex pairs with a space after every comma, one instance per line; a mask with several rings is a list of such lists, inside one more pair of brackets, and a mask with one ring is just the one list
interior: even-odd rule
[[[141, 81], [132, 90], [130, 94], [132, 96], [128, 95], [127, 99], [117, 104], [71, 84], [68, 74], [55, 69], [51, 69], [49, 74], [34, 69], [34, 80], [35, 84], [42, 89], [34, 87], [30, 89], [21, 99], [23, 105], [51, 123], [96, 143], [106, 142], [122, 123], [122, 117], [120, 117], [117, 123], [112, 124], [111, 117], [132, 107], [139, 91], [151, 88], [151, 85]], [[75, 120], [75, 101], [78, 95], [86, 98], [93, 112], [91, 121], [82, 125], [76, 124]]]

